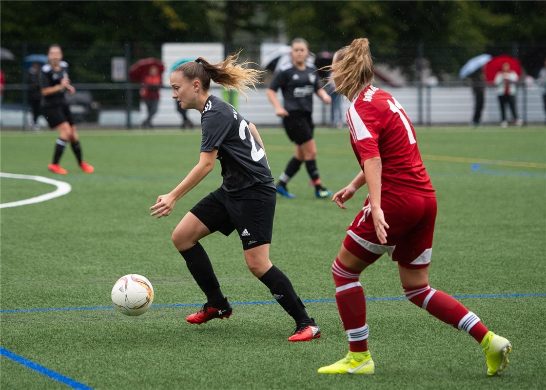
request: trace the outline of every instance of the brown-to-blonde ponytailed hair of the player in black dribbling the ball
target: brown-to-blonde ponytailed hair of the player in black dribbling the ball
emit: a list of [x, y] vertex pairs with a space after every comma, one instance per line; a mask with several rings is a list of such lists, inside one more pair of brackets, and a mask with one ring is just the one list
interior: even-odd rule
[[205, 91], [210, 90], [210, 80], [212, 80], [228, 90], [238, 91], [247, 99], [245, 91], [251, 88], [256, 89], [256, 84], [260, 84], [260, 78], [265, 72], [248, 68], [248, 65], [253, 62], [237, 63], [240, 53], [241, 51], [217, 64], [211, 64], [205, 58], [199, 57], [195, 61], [177, 66], [173, 73], [182, 72], [188, 79], [199, 79]]

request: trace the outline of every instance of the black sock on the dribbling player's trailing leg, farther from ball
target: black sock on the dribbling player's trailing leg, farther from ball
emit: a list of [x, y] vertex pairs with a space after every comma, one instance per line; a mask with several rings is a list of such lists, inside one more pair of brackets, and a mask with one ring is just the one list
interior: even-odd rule
[[311, 321], [300, 297], [296, 295], [292, 283], [280, 269], [274, 265], [259, 279], [269, 288], [273, 297], [297, 323]]

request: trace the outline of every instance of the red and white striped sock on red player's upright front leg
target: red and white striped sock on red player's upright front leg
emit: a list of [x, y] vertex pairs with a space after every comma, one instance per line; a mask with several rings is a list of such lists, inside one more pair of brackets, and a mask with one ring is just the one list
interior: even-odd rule
[[332, 274], [336, 285], [337, 310], [349, 339], [349, 351], [365, 352], [368, 350], [369, 328], [366, 324], [364, 289], [358, 281], [360, 273], [348, 269], [336, 258], [332, 264]]

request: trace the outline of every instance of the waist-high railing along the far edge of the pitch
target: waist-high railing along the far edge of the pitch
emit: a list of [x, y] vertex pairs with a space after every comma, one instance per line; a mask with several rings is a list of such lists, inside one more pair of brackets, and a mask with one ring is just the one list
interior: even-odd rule
[[[474, 111], [474, 96], [470, 85], [463, 82], [442, 82], [436, 86], [426, 86], [413, 83], [403, 87], [391, 87], [376, 84], [388, 91], [399, 101], [412, 122], [416, 125], [466, 125], [470, 123]], [[138, 128], [146, 117], [146, 107], [140, 101], [138, 84], [74, 84], [77, 94], [67, 97], [76, 121], [86, 127], [104, 128]], [[135, 91], [136, 90], [136, 91]], [[159, 127], [177, 127], [182, 119], [176, 110], [176, 103], [171, 98], [169, 87], [160, 91], [157, 114], [152, 125]], [[212, 94], [229, 100], [223, 88], [212, 87]], [[517, 110], [524, 124], [544, 123], [543, 93], [538, 86], [520, 84], [517, 94]], [[32, 128], [32, 112], [28, 98], [28, 87], [23, 84], [8, 84], [4, 94], [11, 95], [11, 103], [0, 106], [0, 123], [3, 129]], [[13, 96], [15, 94], [15, 96]], [[234, 96], [232, 104], [237, 107], [248, 120], [261, 126], [279, 126], [281, 121], [275, 116], [274, 109], [265, 94], [265, 88], [260, 87], [256, 93], [249, 93], [248, 102], [244, 98]], [[280, 97], [280, 93], [279, 93]], [[5, 101], [4, 101], [5, 102]], [[335, 125], [331, 120], [331, 107], [314, 97], [313, 121], [317, 125]], [[349, 107], [349, 102], [343, 99], [342, 113]], [[511, 117], [511, 113], [507, 113]], [[200, 123], [200, 113], [196, 110], [187, 111], [188, 119]], [[345, 118], [341, 121], [345, 123]], [[483, 123], [500, 122], [500, 108], [495, 87], [485, 88], [485, 104], [482, 113]], [[46, 127], [43, 117], [39, 124]]]

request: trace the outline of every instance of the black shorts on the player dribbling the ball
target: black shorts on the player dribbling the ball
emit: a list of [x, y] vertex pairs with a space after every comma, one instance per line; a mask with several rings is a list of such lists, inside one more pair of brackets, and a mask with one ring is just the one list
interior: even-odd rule
[[191, 210], [211, 233], [226, 236], [235, 229], [244, 250], [270, 244], [277, 194], [275, 187], [258, 185], [236, 193], [222, 187], [201, 199]]

